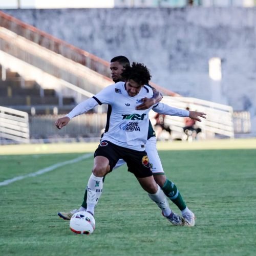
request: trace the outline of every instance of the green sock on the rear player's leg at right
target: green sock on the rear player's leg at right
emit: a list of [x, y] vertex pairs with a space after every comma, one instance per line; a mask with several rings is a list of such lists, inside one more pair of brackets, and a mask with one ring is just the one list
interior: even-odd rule
[[164, 194], [172, 200], [173, 203], [175, 203], [180, 210], [184, 210], [186, 208], [186, 204], [183, 201], [183, 198], [176, 187], [176, 185], [172, 182], [166, 179], [166, 181], [163, 184], [162, 187]]

